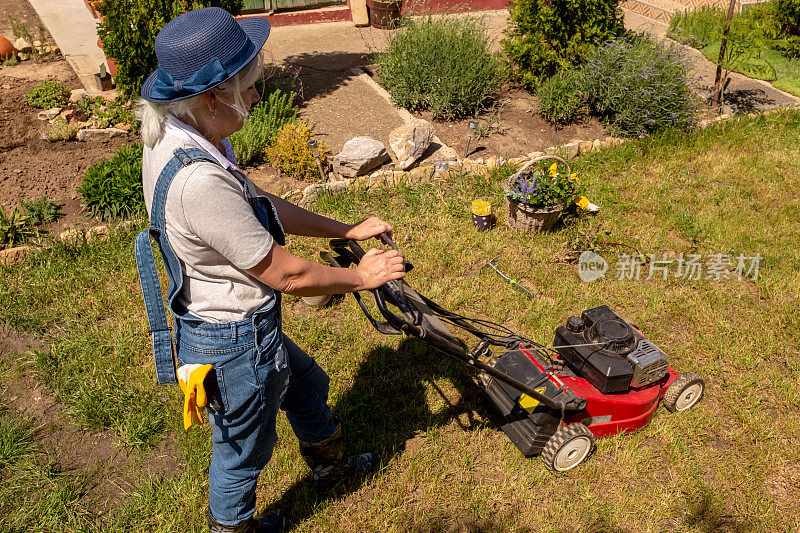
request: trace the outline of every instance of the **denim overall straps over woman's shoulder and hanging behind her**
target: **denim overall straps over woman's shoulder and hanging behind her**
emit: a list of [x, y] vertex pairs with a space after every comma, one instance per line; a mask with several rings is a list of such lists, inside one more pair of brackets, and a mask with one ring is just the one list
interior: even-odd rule
[[[158, 244], [161, 257], [164, 259], [164, 266], [169, 276], [167, 298], [171, 304], [172, 299], [181, 289], [183, 274], [178, 256], [172, 250], [167, 239], [165, 227], [167, 192], [178, 171], [197, 161], [218, 164], [216, 159], [198, 148], [175, 150], [174, 156], [156, 180], [153, 203], [150, 208], [150, 227], [136, 236], [136, 268], [139, 271], [139, 282], [142, 285], [147, 322], [150, 325], [150, 333], [153, 335], [153, 358], [159, 384], [176, 383], [177, 374], [175, 372], [175, 346], [164, 310], [164, 298], [161, 294], [161, 284], [158, 279], [150, 237], [152, 236]], [[170, 309], [170, 311], [173, 310]]]

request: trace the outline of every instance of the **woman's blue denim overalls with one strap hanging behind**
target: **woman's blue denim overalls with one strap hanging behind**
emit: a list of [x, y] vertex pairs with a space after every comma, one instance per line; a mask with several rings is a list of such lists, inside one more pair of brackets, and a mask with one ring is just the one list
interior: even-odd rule
[[[327, 374], [281, 330], [281, 295], [251, 317], [237, 322], [205, 322], [181, 308], [175, 297], [183, 284], [181, 264], [167, 239], [164, 210], [167, 191], [181, 168], [198, 161], [219, 164], [198, 148], [178, 149], [156, 181], [150, 228], [136, 238], [136, 265], [142, 284], [159, 383], [175, 383], [179, 365], [209, 363], [217, 372], [224, 412], [209, 409], [213, 456], [209, 467], [209, 510], [216, 520], [236, 525], [255, 512], [258, 475], [269, 462], [278, 439], [275, 420], [280, 407], [301, 442], [321, 442], [337, 429], [328, 407]], [[265, 196], [252, 197], [242, 184], [256, 218], [285, 242], [275, 207]], [[175, 317], [175, 344], [164, 312], [152, 236], [161, 250], [169, 289], [167, 303]], [[177, 357], [175, 357], [177, 350]], [[291, 380], [289, 376], [291, 375]]]

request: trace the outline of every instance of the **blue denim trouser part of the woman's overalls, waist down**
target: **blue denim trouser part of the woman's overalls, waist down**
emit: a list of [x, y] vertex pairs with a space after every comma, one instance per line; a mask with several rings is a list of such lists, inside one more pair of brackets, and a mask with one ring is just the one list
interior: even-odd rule
[[327, 403], [329, 378], [283, 334], [279, 296], [239, 322], [177, 322], [179, 364], [217, 369], [225, 412], [209, 410], [209, 509], [217, 521], [236, 525], [255, 513], [256, 482], [278, 440], [279, 407], [301, 442], [321, 442], [336, 431]]

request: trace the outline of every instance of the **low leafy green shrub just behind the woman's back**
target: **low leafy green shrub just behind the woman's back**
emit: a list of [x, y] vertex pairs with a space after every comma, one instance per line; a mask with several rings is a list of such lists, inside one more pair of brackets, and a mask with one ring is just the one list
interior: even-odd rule
[[78, 194], [89, 216], [100, 220], [143, 215], [142, 145], [123, 146], [111, 159], [89, 167]]

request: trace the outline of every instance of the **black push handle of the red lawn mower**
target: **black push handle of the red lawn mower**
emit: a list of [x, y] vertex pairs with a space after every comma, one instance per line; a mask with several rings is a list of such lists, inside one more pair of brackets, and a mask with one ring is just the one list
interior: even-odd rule
[[[386, 242], [392, 249], [397, 250], [397, 245], [392, 241], [392, 239], [382, 233], [380, 238]], [[357, 264], [361, 261], [361, 258], [364, 257], [365, 252], [361, 246], [351, 239], [334, 239], [331, 241], [331, 248], [334, 250], [343, 252], [347, 251], [348, 255], [352, 257], [342, 257], [342, 259], [346, 259], [347, 264], [342, 264], [338, 258], [334, 257], [332, 254], [328, 252], [324, 252], [322, 257], [327, 260], [332, 265], [340, 266], [340, 267], [347, 267], [350, 264]], [[407, 268], [406, 271], [411, 270], [411, 264], [406, 263]], [[501, 372], [494, 368], [491, 365], [488, 365], [478, 359], [480, 354], [476, 353], [476, 350], [472, 352], [468, 352], [464, 345], [460, 343], [460, 341], [455, 342], [453, 339], [449, 339], [444, 335], [437, 333], [431, 329], [427, 329], [424, 327], [420, 327], [419, 324], [419, 316], [415, 316], [414, 311], [419, 313], [416, 307], [413, 305], [412, 302], [408, 300], [406, 297], [405, 290], [403, 289], [404, 282], [402, 279], [389, 281], [376, 289], [371, 289], [370, 292], [375, 296], [375, 303], [378, 306], [378, 310], [380, 311], [381, 315], [386, 319], [386, 322], [378, 322], [369, 312], [364, 302], [361, 300], [361, 296], [358, 292], [354, 292], [353, 296], [355, 297], [356, 301], [361, 307], [361, 310], [367, 316], [367, 319], [372, 323], [372, 325], [377, 329], [379, 332], [389, 335], [396, 335], [399, 333], [405, 333], [410, 336], [418, 337], [427, 341], [431, 344], [434, 348], [444, 352], [446, 355], [453, 357], [454, 359], [458, 359], [462, 363], [465, 363], [467, 366], [476, 368], [486, 374], [492, 376], [495, 379], [503, 381], [504, 383], [514, 387], [520, 392], [525, 393], [532, 398], [539, 400], [544, 405], [560, 411], [563, 413], [565, 411], [579, 411], [586, 407], [586, 400], [584, 398], [577, 397], [572, 395], [569, 401], [562, 402], [553, 400], [548, 398], [547, 396], [543, 395], [539, 391], [534, 390], [532, 387], [527, 386], [526, 384], [518, 381], [508, 374]], [[400, 304], [403, 307], [407, 308], [408, 311], [402, 309], [398, 306], [401, 311], [403, 311], [404, 317], [400, 317], [395, 313], [391, 312], [386, 305], [386, 297], [389, 296], [395, 305]], [[433, 302], [429, 302], [427, 298], [422, 295], [419, 295], [424, 301], [427, 303], [433, 304]], [[435, 305], [435, 304], [434, 304]], [[436, 307], [439, 307], [438, 305]], [[479, 345], [480, 348], [481, 345]]]

